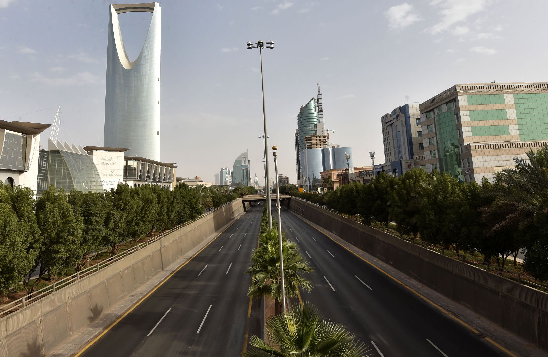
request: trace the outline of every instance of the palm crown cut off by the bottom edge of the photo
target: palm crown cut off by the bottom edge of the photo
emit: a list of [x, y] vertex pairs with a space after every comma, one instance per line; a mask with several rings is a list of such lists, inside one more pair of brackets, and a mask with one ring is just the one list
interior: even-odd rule
[[244, 357], [267, 356], [329, 356], [367, 357], [366, 344], [354, 342], [355, 336], [346, 327], [324, 319], [311, 303], [293, 306], [286, 314], [272, 316], [266, 321], [266, 332], [272, 347], [253, 336], [252, 346]]

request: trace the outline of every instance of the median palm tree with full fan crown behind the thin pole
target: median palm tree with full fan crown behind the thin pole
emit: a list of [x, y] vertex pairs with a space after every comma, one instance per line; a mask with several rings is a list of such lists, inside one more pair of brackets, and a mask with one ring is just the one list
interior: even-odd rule
[[[284, 233], [282, 233], [284, 235]], [[312, 271], [310, 263], [297, 250], [297, 246], [282, 235], [283, 275], [286, 296], [295, 297], [299, 288], [312, 289], [310, 280], [301, 277]], [[259, 248], [251, 256], [252, 266], [246, 273], [253, 274], [248, 296], [260, 298], [270, 296], [275, 302], [275, 314], [282, 310], [282, 284], [279, 272], [279, 246], [276, 229], [267, 229], [261, 234]]]

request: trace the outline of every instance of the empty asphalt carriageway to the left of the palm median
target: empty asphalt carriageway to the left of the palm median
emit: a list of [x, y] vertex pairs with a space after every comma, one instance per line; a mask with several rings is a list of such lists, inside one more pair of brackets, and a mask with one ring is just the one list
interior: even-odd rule
[[252, 206], [82, 356], [240, 355], [261, 211]]

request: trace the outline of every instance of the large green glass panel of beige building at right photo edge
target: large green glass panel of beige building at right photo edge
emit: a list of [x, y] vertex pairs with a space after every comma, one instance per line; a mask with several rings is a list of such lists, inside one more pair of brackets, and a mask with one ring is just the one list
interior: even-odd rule
[[520, 140], [548, 138], [548, 94], [514, 94]]

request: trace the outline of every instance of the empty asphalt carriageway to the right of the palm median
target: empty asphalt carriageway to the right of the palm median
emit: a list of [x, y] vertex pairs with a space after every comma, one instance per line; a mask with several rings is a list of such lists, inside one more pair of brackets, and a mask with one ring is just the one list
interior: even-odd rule
[[315, 270], [301, 293], [380, 357], [505, 356], [396, 281], [282, 209], [282, 230]]

